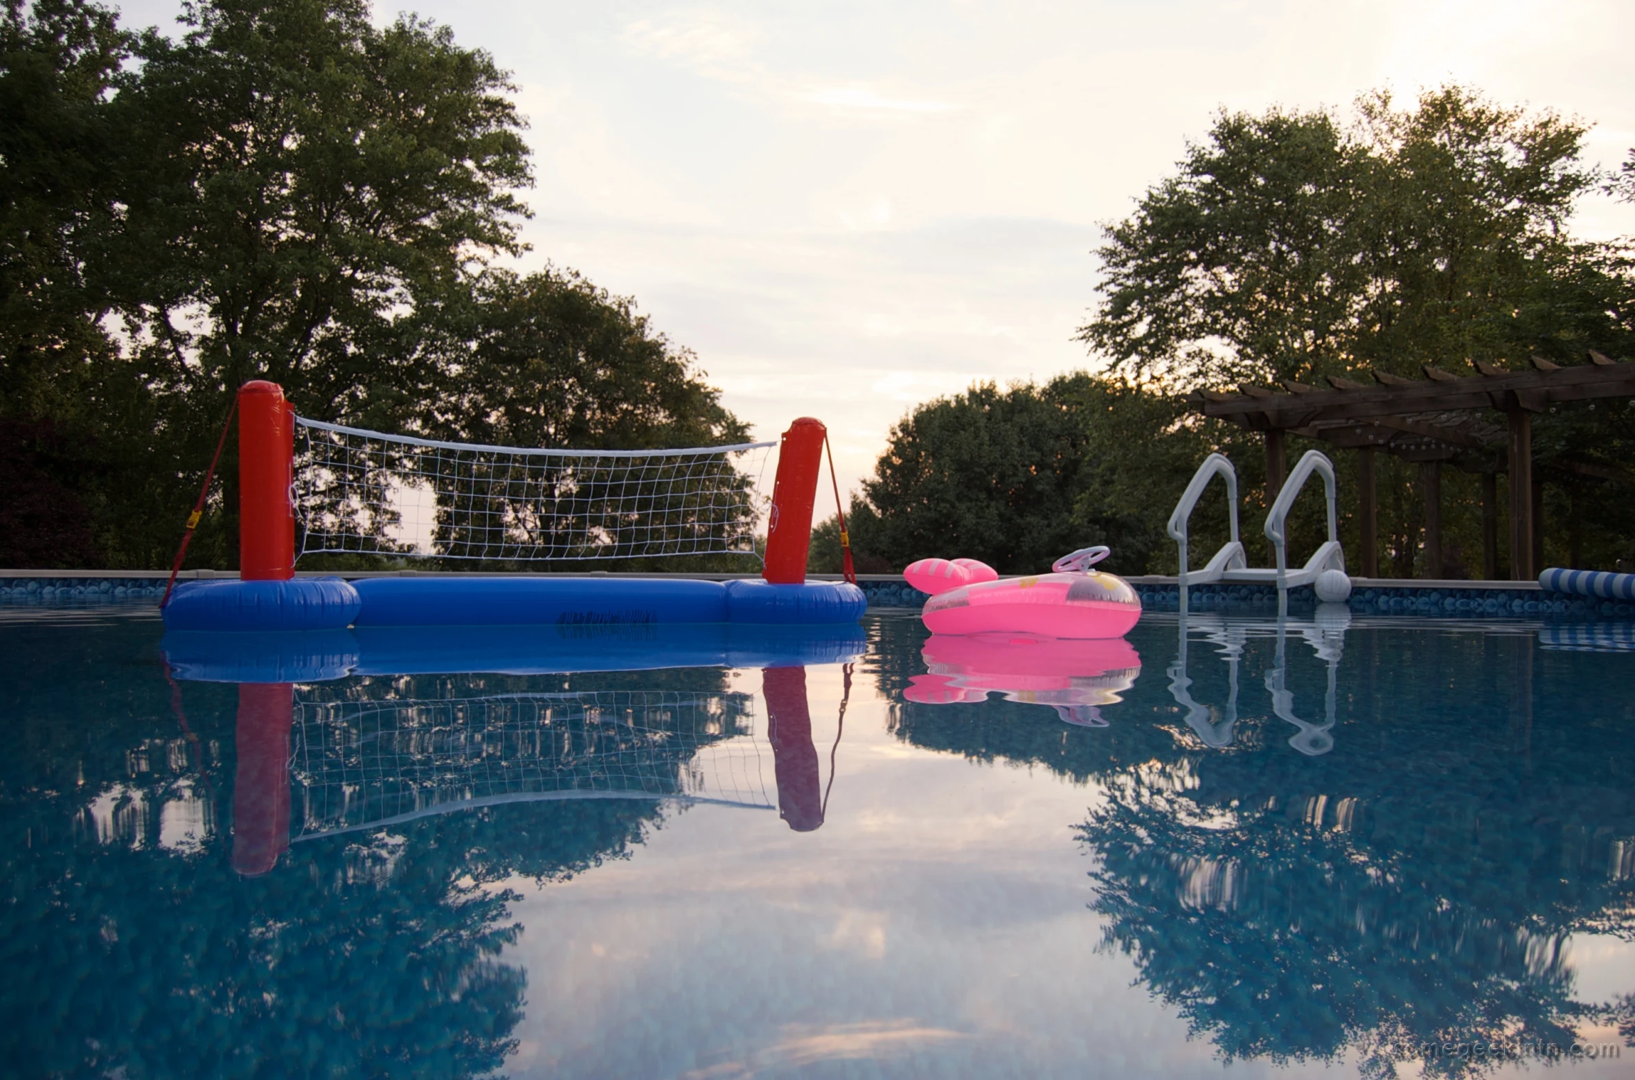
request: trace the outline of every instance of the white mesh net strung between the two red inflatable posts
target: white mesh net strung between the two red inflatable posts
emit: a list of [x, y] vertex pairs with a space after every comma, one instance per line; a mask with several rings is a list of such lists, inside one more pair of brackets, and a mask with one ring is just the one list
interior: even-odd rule
[[302, 556], [754, 556], [760, 472], [777, 446], [522, 449], [296, 425]]

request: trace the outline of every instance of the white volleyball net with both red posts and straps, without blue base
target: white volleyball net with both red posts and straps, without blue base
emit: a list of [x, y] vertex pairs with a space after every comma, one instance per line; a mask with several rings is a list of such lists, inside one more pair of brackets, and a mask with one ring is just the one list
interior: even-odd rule
[[[827, 453], [827, 430], [809, 417], [795, 420], [777, 443], [731, 446], [553, 449], [438, 441], [299, 417], [278, 384], [257, 379], [234, 399], [175, 569], [203, 515], [234, 417], [245, 580], [288, 578], [296, 559], [309, 554], [482, 562], [760, 557], [757, 526], [765, 521], [760, 560], [767, 580], [801, 582]], [[768, 500], [760, 480], [775, 446], [778, 471]], [[849, 547], [845, 557], [850, 565]]]

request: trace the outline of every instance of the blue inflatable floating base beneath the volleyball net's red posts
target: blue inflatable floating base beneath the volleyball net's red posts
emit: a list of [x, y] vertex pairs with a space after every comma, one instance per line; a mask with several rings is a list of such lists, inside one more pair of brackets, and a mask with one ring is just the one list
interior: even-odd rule
[[835, 626], [855, 624], [867, 606], [863, 590], [845, 582], [479, 575], [185, 582], [165, 605], [165, 629]]

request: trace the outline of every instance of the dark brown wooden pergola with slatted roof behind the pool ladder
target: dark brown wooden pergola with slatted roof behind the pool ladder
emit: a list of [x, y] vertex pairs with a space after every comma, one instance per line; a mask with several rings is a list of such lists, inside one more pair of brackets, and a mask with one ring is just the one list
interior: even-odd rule
[[[1542, 489], [1534, 484], [1532, 417], [1557, 402], [1596, 397], [1635, 397], [1635, 363], [1614, 363], [1589, 353], [1588, 364], [1560, 366], [1540, 356], [1532, 371], [1504, 371], [1472, 361], [1473, 376], [1457, 376], [1431, 364], [1426, 377], [1404, 379], [1375, 371], [1375, 384], [1329, 376], [1333, 389], [1283, 382], [1282, 389], [1239, 386], [1236, 394], [1197, 390], [1190, 400], [1207, 417], [1265, 433], [1267, 500], [1287, 475], [1285, 435], [1293, 431], [1359, 454], [1360, 564], [1364, 577], [1378, 577], [1375, 533], [1378, 500], [1373, 482], [1377, 451], [1421, 466], [1426, 500], [1426, 565], [1442, 565], [1442, 464], [1481, 475], [1483, 573], [1498, 573], [1498, 474], [1509, 474], [1511, 577], [1539, 575]], [[1491, 410], [1504, 413], [1503, 426]], [[1486, 413], [1486, 415], [1485, 415]], [[1568, 462], [1565, 471], [1632, 480], [1635, 472], [1594, 462]], [[1436, 570], [1432, 570], [1436, 573]]]

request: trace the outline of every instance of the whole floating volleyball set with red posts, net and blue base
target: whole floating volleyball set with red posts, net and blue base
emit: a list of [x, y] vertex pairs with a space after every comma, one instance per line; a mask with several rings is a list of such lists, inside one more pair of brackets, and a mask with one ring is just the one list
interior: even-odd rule
[[[178, 588], [234, 415], [239, 582], [186, 582]], [[768, 500], [760, 493], [760, 475], [773, 446], [778, 466]], [[234, 399], [159, 606], [167, 629], [206, 632], [605, 623], [626, 621], [638, 608], [651, 623], [855, 621], [867, 598], [852, 572], [844, 516], [847, 587], [806, 580], [826, 451], [827, 430], [809, 417], [795, 420], [777, 443], [731, 446], [558, 449], [438, 441], [299, 417], [280, 386], [257, 379]], [[829, 472], [832, 479], [832, 462]], [[837, 482], [834, 497], [839, 507]], [[760, 564], [764, 580], [647, 578], [639, 587], [590, 593], [566, 580], [572, 575], [549, 583], [538, 573], [520, 575], [505, 588], [481, 575], [458, 575], [466, 583], [456, 587], [422, 587], [402, 572], [397, 585], [348, 583], [311, 575], [296, 580], [301, 556], [420, 557], [445, 570], [585, 569], [587, 560], [649, 570], [651, 564], [641, 564], [654, 559], [747, 556]], [[347, 569], [363, 567], [353, 562]]]

